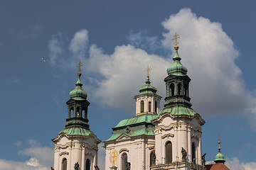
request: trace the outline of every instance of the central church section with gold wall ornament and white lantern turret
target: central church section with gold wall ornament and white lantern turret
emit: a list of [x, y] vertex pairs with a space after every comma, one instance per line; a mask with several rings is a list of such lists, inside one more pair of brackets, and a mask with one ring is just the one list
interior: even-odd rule
[[139, 89], [136, 114], [120, 121], [112, 128], [112, 136], [106, 140], [105, 169], [149, 170], [154, 163], [154, 120], [159, 113], [161, 96], [149, 81], [150, 67], [146, 68], [146, 84]]

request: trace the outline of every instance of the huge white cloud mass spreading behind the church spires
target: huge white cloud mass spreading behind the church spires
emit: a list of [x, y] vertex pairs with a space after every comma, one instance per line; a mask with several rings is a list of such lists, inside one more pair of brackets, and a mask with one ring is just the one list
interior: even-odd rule
[[49, 42], [53, 54], [50, 60], [53, 64], [58, 61], [60, 65], [73, 63], [73, 68], [81, 60], [90, 81], [90, 86], [85, 86], [89, 90], [88, 98], [132, 113], [135, 107], [132, 98], [138, 94], [139, 87], [144, 85], [144, 69], [148, 65], [153, 68], [151, 85], [156, 86], [158, 94], [165, 97], [164, 77], [172, 60], [167, 55], [150, 54], [152, 51], [149, 49], [164, 49], [166, 52], [171, 51], [171, 56], [174, 56], [172, 39], [177, 32], [181, 37], [178, 40], [181, 62], [188, 68], [188, 76], [192, 79], [190, 93], [195, 111], [201, 115], [243, 111], [253, 128], [256, 128], [255, 97], [245, 89], [242, 71], [235, 64], [240, 54], [221, 24], [198, 17], [191, 9], [183, 8], [166, 18], [162, 25], [165, 29], [162, 40], [146, 36], [144, 31], [131, 32], [127, 37], [130, 44], [115, 47], [112, 54], [105, 54], [97, 45], [91, 45], [86, 59], [88, 32], [80, 30], [70, 42], [69, 51], [72, 55], [63, 59], [63, 62], [59, 62], [63, 51], [61, 43], [53, 36]]

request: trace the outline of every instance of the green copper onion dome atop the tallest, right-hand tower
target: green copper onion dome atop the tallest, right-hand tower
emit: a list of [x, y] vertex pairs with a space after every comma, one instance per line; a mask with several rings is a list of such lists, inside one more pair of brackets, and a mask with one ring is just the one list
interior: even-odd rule
[[171, 64], [167, 69], [168, 75], [172, 74], [174, 76], [186, 76], [188, 69], [181, 64], [181, 57], [178, 56], [178, 51], [173, 58], [174, 63]]

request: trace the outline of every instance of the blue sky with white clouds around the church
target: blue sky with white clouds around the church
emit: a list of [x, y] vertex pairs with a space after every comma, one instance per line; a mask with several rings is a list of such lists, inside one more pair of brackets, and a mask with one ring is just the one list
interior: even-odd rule
[[65, 126], [79, 61], [90, 130], [102, 141], [135, 115], [147, 66], [164, 98], [175, 33], [192, 108], [206, 120], [206, 161], [218, 153], [220, 135], [226, 165], [254, 169], [255, 6], [249, 0], [1, 1], [0, 170], [53, 166], [51, 139]]

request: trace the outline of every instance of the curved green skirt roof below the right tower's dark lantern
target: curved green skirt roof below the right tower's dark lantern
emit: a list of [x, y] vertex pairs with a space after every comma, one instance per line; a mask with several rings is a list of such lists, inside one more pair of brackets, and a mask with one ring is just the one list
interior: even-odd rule
[[186, 108], [183, 106], [164, 108], [162, 111], [158, 113], [157, 117], [159, 117], [159, 115], [163, 113], [170, 113], [171, 115], [191, 115], [191, 116], [196, 114], [196, 112], [193, 111], [192, 108]]

